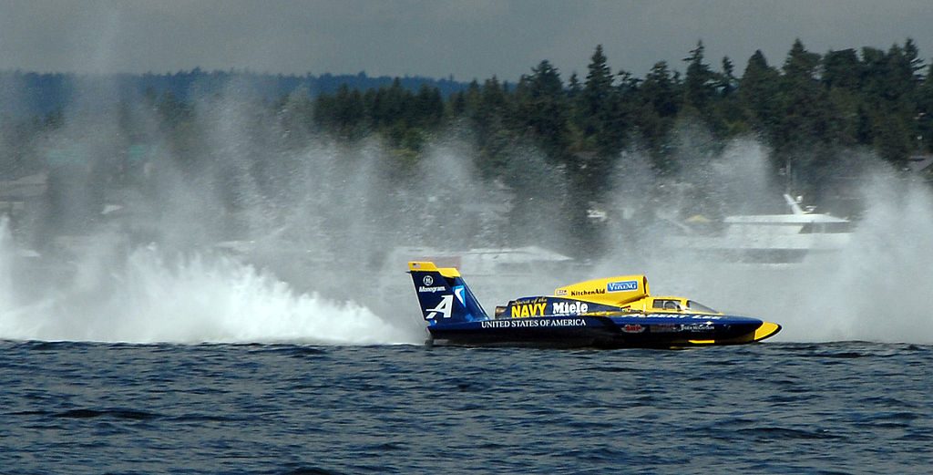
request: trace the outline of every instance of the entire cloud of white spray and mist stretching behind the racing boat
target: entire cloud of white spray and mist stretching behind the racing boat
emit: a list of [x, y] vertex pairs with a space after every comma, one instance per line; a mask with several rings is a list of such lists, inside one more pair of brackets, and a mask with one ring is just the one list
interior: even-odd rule
[[[104, 86], [89, 93], [99, 96]], [[516, 174], [523, 182], [510, 185], [538, 190], [519, 199], [480, 178], [472, 165], [477, 151], [458, 133], [435, 137], [420, 161], [398, 170], [392, 152], [372, 139], [345, 145], [313, 137], [286, 147], [296, 132], [231, 88], [229, 97], [194, 103], [192, 133], [202, 134], [204, 149], [170, 144], [144, 107], [119, 111], [152, 124], [155, 137], [143, 183], [120, 196], [131, 216], [100, 217], [110, 199], [95, 176], [114, 162], [95, 161], [91, 171], [69, 176], [58, 185], [66, 212], [77, 218], [31, 231], [81, 238], [70, 254], [43, 253], [49, 273], [24, 272], [31, 261], [4, 224], [0, 338], [419, 343], [424, 323], [404, 261], [421, 256], [397, 249], [568, 242], [567, 221], [555, 211], [566, 199], [567, 177], [535, 150], [515, 152], [528, 169]], [[115, 156], [131, 145], [117, 132], [119, 114], [72, 111], [60, 132], [43, 138], [44, 147]], [[780, 323], [780, 341], [933, 342], [926, 291], [933, 198], [924, 185], [884, 173], [866, 178], [860, 189], [867, 210], [836, 256], [775, 269], [672, 258], [658, 245], [669, 230], [645, 217], [763, 214], [784, 206], [784, 190], [768, 175], [769, 151], [759, 143], [737, 140], [714, 154], [699, 151], [707, 147], [689, 133], [676, 140], [680, 153], [698, 155], [674, 177], [657, 180], [638, 153], [620, 158], [606, 200], [613, 219], [604, 258], [501, 281], [471, 280], [464, 270], [485, 306], [520, 297], [513, 291], [545, 294], [578, 279], [646, 273], [656, 294]], [[718, 205], [698, 207], [700, 195]], [[522, 212], [508, 214], [509, 206]]]

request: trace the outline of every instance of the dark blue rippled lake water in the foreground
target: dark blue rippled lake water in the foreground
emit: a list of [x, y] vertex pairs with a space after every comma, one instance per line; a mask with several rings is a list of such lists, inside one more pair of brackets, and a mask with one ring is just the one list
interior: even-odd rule
[[933, 346], [0, 342], [2, 473], [929, 473]]

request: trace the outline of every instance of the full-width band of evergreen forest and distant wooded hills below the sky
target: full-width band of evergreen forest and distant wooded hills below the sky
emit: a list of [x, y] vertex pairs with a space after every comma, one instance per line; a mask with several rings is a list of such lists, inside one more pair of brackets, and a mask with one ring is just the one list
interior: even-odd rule
[[[515, 195], [510, 223], [534, 221], [542, 211], [533, 208], [549, 203], [578, 230], [573, 241], [580, 243], [592, 234], [586, 210], [605, 201], [633, 157], [646, 158], [653, 180], [675, 180], [685, 169], [702, 169], [731, 140], [747, 138], [767, 147], [775, 180], [822, 204], [844, 201], [866, 155], [906, 175], [911, 157], [933, 147], [933, 64], [910, 38], [887, 50], [823, 54], [797, 40], [780, 65], [757, 51], [741, 74], [729, 58], [712, 65], [701, 41], [682, 64], [656, 63], [645, 77], [613, 70], [596, 46], [585, 76], [565, 77], [543, 60], [514, 83], [383, 77], [374, 84], [361, 74], [339, 85], [326, 75], [327, 87], [310, 87], [295, 77], [201, 71], [135, 81], [39, 78], [58, 81], [62, 94], [57, 106], [46, 98], [48, 112], [23, 114], [36, 110], [35, 88], [4, 88], [0, 174], [8, 180], [48, 171], [45, 216], [52, 221], [80, 220], [62, 191], [82, 175], [76, 162], [95, 203], [103, 203], [106, 189], [139, 185], [137, 161], [155, 155], [190, 176], [228, 161], [236, 173], [255, 175], [260, 195], [272, 196], [270, 170], [285, 169], [281, 157], [318, 143], [352, 148], [376, 141], [384, 151], [380, 173], [399, 188], [411, 183], [405, 180], [430, 147], [455, 137], [469, 144], [462, 160], [484, 183]], [[230, 109], [244, 122], [233, 133], [235, 148], [216, 142], [223, 121], [216, 118], [229, 118]], [[231, 155], [249, 163], [234, 164]], [[244, 199], [230, 190], [243, 180], [231, 174], [220, 174], [229, 182], [217, 188], [230, 209], [242, 208], [237, 202]], [[548, 189], [562, 192], [555, 199], [545, 196]]]

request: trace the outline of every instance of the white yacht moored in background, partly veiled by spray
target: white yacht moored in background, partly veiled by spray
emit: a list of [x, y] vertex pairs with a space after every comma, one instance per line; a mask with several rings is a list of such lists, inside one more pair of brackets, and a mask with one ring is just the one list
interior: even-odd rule
[[790, 212], [783, 215], [729, 216], [720, 222], [693, 217], [675, 223], [683, 231], [665, 236], [668, 250], [698, 258], [751, 264], [793, 264], [842, 250], [850, 241], [849, 219], [801, 207], [785, 194]]

